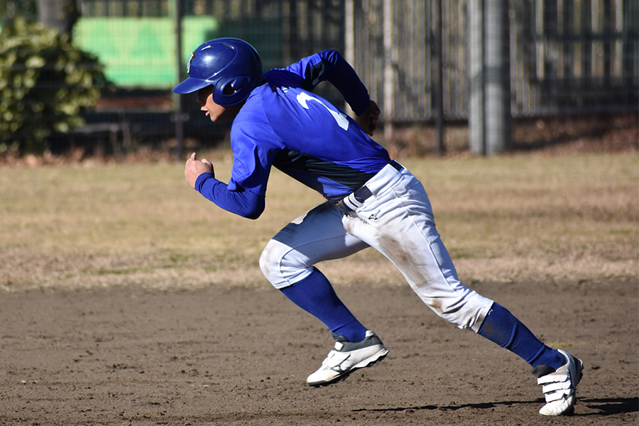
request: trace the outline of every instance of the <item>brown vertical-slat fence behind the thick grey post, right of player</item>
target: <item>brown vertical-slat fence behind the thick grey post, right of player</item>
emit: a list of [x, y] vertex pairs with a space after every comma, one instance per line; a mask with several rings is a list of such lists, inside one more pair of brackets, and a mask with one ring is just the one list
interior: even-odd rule
[[[467, 119], [469, 1], [444, 0], [444, 117]], [[349, 3], [349, 2], [346, 2]], [[435, 1], [353, 0], [350, 58], [394, 121], [433, 117]], [[639, 2], [513, 0], [511, 112], [515, 117], [636, 111]], [[390, 81], [389, 81], [390, 79]]]

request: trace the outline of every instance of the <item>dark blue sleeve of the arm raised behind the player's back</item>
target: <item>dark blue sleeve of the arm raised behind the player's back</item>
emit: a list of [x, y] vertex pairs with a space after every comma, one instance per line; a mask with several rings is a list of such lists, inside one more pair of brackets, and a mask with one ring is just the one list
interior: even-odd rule
[[285, 71], [290, 73], [288, 77], [309, 92], [320, 82], [333, 84], [355, 114], [364, 113], [371, 103], [366, 86], [337, 50], [322, 50], [289, 65]]

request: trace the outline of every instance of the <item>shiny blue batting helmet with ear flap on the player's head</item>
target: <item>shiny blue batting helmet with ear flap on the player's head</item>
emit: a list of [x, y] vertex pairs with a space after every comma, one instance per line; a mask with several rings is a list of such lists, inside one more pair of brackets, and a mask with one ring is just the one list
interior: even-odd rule
[[216, 38], [191, 53], [186, 80], [173, 88], [185, 94], [213, 86], [213, 100], [223, 107], [239, 104], [262, 84], [262, 60], [249, 43], [238, 38]]

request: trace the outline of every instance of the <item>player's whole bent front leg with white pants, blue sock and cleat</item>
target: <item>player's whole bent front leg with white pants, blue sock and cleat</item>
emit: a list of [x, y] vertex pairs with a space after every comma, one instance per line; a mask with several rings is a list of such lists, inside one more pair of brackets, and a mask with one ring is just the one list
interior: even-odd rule
[[308, 376], [311, 386], [333, 383], [388, 354], [377, 335], [356, 320], [327, 278], [313, 266], [366, 247], [344, 231], [342, 215], [327, 202], [285, 226], [260, 258], [262, 271], [275, 288], [324, 322], [336, 340], [322, 366]]

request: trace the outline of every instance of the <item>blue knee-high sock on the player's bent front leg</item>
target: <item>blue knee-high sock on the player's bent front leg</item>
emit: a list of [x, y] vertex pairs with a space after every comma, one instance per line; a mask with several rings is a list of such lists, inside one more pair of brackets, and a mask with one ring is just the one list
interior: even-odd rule
[[364, 327], [339, 300], [323, 273], [313, 272], [297, 283], [280, 289], [295, 305], [314, 315], [335, 333], [349, 342], [361, 342], [366, 337]]

